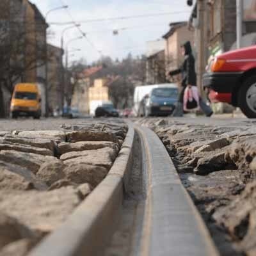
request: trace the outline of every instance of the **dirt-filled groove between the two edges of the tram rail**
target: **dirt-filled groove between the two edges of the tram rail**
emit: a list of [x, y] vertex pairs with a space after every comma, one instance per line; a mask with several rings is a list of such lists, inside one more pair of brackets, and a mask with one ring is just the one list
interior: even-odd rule
[[107, 246], [104, 256], [132, 256], [138, 255], [138, 237], [141, 233], [141, 205], [146, 198], [145, 177], [141, 162], [141, 145], [136, 135], [132, 163], [132, 172], [129, 186], [125, 191], [121, 218], [118, 221], [116, 232]]

